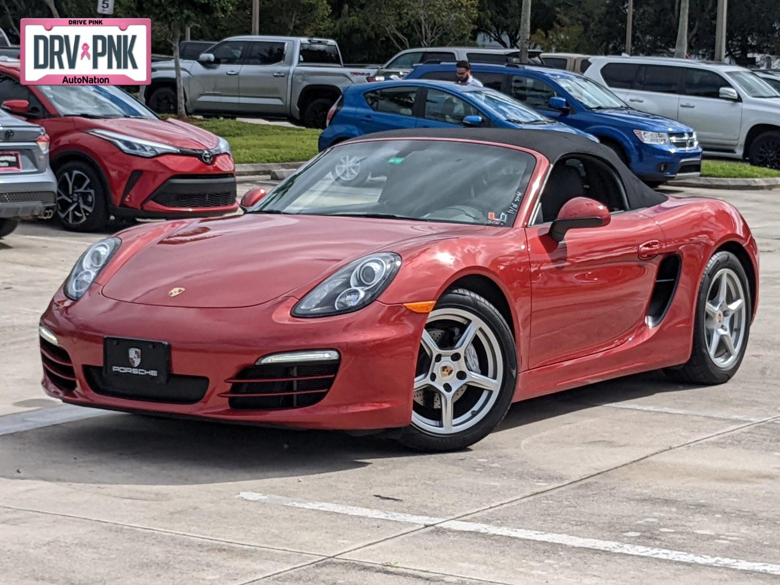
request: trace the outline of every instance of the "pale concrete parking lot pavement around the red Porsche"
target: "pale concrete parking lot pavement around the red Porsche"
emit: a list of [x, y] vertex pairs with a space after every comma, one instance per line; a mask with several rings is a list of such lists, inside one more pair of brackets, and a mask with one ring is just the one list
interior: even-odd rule
[[780, 191], [675, 193], [731, 201], [761, 248], [739, 374], [520, 402], [445, 455], [48, 399], [38, 317], [103, 235], [23, 224], [0, 243], [0, 583], [780, 583]]

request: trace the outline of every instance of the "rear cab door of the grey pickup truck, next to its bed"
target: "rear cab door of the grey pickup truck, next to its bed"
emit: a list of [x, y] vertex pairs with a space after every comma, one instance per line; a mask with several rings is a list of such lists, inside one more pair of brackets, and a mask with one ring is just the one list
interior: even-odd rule
[[256, 41], [250, 44], [239, 70], [242, 112], [287, 113], [291, 45], [290, 41]]

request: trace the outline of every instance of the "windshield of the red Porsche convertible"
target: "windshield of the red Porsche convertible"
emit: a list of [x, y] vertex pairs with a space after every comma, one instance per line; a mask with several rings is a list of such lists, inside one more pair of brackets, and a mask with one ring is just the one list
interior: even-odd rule
[[535, 158], [449, 140], [342, 144], [277, 186], [254, 213], [512, 225]]

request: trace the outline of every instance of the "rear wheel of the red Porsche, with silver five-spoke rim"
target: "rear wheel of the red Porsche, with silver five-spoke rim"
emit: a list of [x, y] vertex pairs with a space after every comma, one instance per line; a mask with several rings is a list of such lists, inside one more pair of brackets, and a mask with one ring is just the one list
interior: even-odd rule
[[723, 384], [739, 370], [750, 336], [750, 286], [731, 252], [711, 257], [699, 287], [693, 350], [670, 378], [697, 385]]

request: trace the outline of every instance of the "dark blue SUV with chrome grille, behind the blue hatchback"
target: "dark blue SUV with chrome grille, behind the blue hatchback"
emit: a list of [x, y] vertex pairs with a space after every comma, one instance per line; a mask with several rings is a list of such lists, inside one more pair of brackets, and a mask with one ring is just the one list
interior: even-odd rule
[[[471, 64], [484, 83], [545, 116], [593, 134], [651, 186], [698, 176], [701, 147], [693, 128], [630, 108], [593, 80], [544, 67]], [[452, 80], [455, 63], [416, 66], [404, 80]]]

